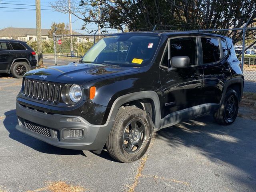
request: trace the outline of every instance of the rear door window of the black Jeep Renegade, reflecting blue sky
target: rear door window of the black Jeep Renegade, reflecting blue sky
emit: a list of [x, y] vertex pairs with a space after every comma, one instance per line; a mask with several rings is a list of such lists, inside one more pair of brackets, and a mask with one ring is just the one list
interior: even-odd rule
[[217, 38], [201, 38], [203, 62], [214, 63], [220, 60], [220, 45]]

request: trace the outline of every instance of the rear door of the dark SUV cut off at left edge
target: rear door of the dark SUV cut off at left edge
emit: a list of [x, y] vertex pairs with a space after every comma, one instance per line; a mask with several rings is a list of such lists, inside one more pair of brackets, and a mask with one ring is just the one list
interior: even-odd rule
[[8, 71], [16, 54], [8, 42], [0, 42], [0, 71]]

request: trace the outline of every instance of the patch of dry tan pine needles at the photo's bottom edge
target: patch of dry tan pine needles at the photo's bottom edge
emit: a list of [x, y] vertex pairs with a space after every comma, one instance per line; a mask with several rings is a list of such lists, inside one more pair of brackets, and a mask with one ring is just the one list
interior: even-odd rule
[[88, 189], [85, 189], [81, 186], [74, 186], [71, 184], [67, 184], [64, 181], [57, 181], [57, 182], [46, 182], [47, 186], [43, 188], [39, 188], [32, 191], [27, 192], [41, 192], [41, 191], [50, 191], [50, 192], [84, 192], [88, 191]]

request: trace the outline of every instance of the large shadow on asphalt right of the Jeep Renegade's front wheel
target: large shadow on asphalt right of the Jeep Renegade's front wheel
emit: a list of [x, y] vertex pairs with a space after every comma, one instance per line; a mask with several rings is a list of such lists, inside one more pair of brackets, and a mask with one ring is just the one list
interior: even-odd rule
[[168, 151], [180, 151], [180, 148], [186, 146], [191, 149], [186, 149], [186, 156], [194, 160], [197, 157], [192, 156], [192, 151], [196, 150], [212, 163], [235, 166], [246, 173], [247, 177], [234, 176], [234, 179], [255, 189], [255, 125], [254, 120], [237, 118], [232, 125], [222, 126], [216, 124], [212, 116], [204, 116], [164, 128], [156, 132], [155, 136], [156, 140], [164, 140], [170, 146]]

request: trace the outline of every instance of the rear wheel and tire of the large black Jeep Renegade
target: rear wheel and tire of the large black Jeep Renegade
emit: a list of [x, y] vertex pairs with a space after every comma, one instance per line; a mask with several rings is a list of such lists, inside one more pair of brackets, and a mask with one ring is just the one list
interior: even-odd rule
[[213, 114], [214, 120], [218, 124], [230, 125], [236, 120], [238, 108], [238, 94], [235, 90], [229, 89], [220, 108]]

